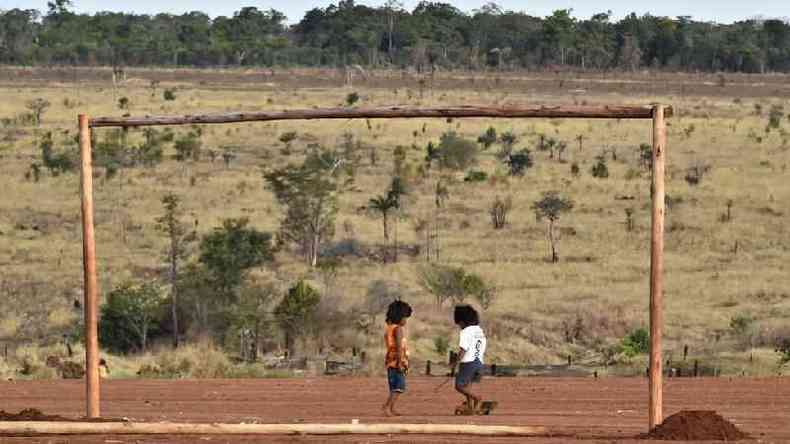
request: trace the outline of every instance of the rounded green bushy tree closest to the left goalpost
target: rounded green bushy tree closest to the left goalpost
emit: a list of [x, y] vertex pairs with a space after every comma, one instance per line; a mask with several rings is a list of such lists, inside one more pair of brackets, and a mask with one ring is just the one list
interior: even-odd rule
[[162, 309], [162, 293], [155, 284], [126, 282], [110, 292], [101, 308], [99, 340], [113, 352], [145, 352]]

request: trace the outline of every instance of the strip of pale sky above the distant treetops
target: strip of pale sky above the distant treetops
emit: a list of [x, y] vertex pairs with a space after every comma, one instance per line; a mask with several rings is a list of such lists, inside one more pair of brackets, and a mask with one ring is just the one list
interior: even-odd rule
[[[380, 6], [385, 0], [357, 0], [357, 4]], [[472, 11], [487, 3], [486, 0], [442, 0], [451, 3], [462, 11]], [[412, 9], [419, 0], [401, 0], [404, 7]], [[123, 11], [153, 14], [169, 12], [181, 14], [187, 11], [199, 10], [212, 17], [218, 15], [233, 15], [245, 6], [255, 6], [259, 9], [274, 8], [285, 13], [289, 23], [298, 22], [305, 11], [315, 7], [326, 7], [332, 0], [257, 0], [257, 1], [216, 1], [216, 0], [133, 0], [131, 2], [108, 2], [107, 0], [73, 0], [78, 12], [96, 11]], [[546, 16], [556, 9], [573, 9], [573, 15], [578, 18], [587, 18], [597, 12], [611, 10], [615, 18], [636, 12], [638, 15], [650, 13], [652, 15], [676, 17], [681, 15], [692, 16], [695, 20], [716, 21], [719, 23], [732, 23], [753, 17], [786, 18], [790, 17], [790, 0], [662, 0], [656, 1], [626, 1], [626, 0], [499, 0], [496, 1], [503, 9], [524, 11], [531, 15]], [[122, 6], [119, 6], [122, 5]], [[2, 9], [47, 9], [47, 0], [0, 0]]]

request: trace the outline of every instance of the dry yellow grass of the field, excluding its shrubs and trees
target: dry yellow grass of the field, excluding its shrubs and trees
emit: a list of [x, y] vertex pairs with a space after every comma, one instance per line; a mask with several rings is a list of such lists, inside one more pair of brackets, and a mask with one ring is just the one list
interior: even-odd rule
[[[156, 94], [151, 79], [160, 79]], [[684, 345], [690, 357], [727, 374], [775, 375], [783, 371], [777, 337], [790, 336], [790, 78], [611, 74], [442, 74], [420, 83], [397, 75], [375, 74], [344, 87], [330, 71], [208, 72], [133, 70], [114, 90], [108, 70], [0, 69], [0, 119], [26, 111], [25, 103], [44, 98], [51, 107], [40, 127], [0, 125], [0, 345], [12, 355], [31, 347], [54, 346], [78, 322], [81, 299], [79, 177], [58, 177], [42, 170], [39, 182], [26, 179], [31, 162], [40, 161], [37, 141], [54, 133], [56, 147], [76, 133], [78, 112], [91, 116], [188, 114], [230, 110], [344, 106], [357, 92], [355, 106], [458, 104], [650, 104], [675, 107], [669, 121], [667, 193], [671, 208], [666, 233], [665, 353], [678, 359]], [[176, 100], [162, 91], [175, 88]], [[129, 99], [129, 110], [117, 107]], [[779, 128], [766, 132], [772, 107], [784, 107]], [[778, 108], [777, 108], [778, 109]], [[234, 124], [203, 128], [203, 149], [236, 155], [230, 166], [207, 156], [197, 162], [172, 159], [156, 168], [125, 169], [96, 179], [96, 221], [102, 292], [130, 278], [153, 278], [164, 268], [166, 239], [155, 230], [161, 197], [183, 199], [198, 231], [206, 233], [224, 218], [249, 217], [274, 232], [281, 208], [264, 187], [262, 169], [298, 161], [309, 143], [334, 146], [345, 133], [377, 150], [379, 162], [362, 156], [353, 188], [342, 194], [335, 241], [353, 238], [369, 251], [384, 245], [381, 220], [358, 211], [383, 194], [393, 172], [393, 150], [407, 148], [412, 192], [398, 236], [402, 245], [422, 245], [414, 230], [434, 210], [439, 173], [417, 173], [428, 142], [448, 130], [476, 140], [489, 126], [512, 131], [517, 148], [532, 151], [534, 167], [522, 178], [508, 177], [494, 146], [482, 151], [475, 169], [484, 182], [464, 182], [463, 172], [442, 173], [449, 200], [441, 218], [441, 263], [462, 265], [497, 288], [484, 312], [489, 359], [503, 363], [562, 363], [568, 355], [602, 368], [601, 350], [646, 326], [649, 275], [650, 174], [640, 167], [639, 145], [651, 140], [648, 121], [605, 120], [433, 120], [310, 121]], [[174, 128], [177, 134], [190, 128]], [[101, 140], [110, 130], [99, 129]], [[297, 133], [290, 153], [278, 141]], [[563, 161], [536, 150], [540, 135], [567, 143]], [[579, 146], [582, 136], [583, 146]], [[131, 140], [142, 133], [132, 130]], [[285, 153], [285, 154], [284, 154]], [[595, 178], [596, 157], [607, 159], [609, 177]], [[580, 174], [571, 174], [578, 164]], [[690, 168], [707, 171], [697, 185], [685, 179]], [[709, 168], [708, 168], [709, 167]], [[99, 174], [100, 172], [97, 172]], [[560, 261], [547, 260], [545, 222], [531, 206], [542, 193], [559, 191], [574, 201], [560, 219]], [[509, 224], [494, 230], [489, 209], [497, 196], [513, 200]], [[731, 219], [723, 221], [727, 202]], [[634, 229], [626, 229], [626, 209]], [[377, 279], [399, 282], [415, 306], [410, 323], [413, 355], [441, 359], [434, 341], [454, 337], [447, 307], [435, 307], [417, 272], [424, 253], [401, 254], [397, 263], [376, 256], [344, 259], [336, 287], [340, 304], [360, 304]], [[321, 288], [318, 273], [285, 249], [275, 263], [256, 270], [260, 280], [289, 285], [307, 277]], [[733, 319], [748, 319], [733, 328]], [[735, 322], [735, 324], [738, 324]], [[579, 326], [568, 340], [569, 326]], [[578, 334], [577, 334], [578, 333]], [[359, 346], [378, 362], [379, 333], [364, 336], [349, 326], [337, 345]], [[27, 350], [27, 351], [26, 351]], [[119, 359], [120, 361], [120, 359]], [[14, 372], [0, 360], [0, 373]], [[121, 365], [121, 364], [119, 364]], [[643, 368], [640, 358], [632, 361]], [[638, 370], [635, 370], [638, 371]], [[787, 372], [784, 367], [784, 372]], [[130, 370], [133, 373], [133, 370]]]

